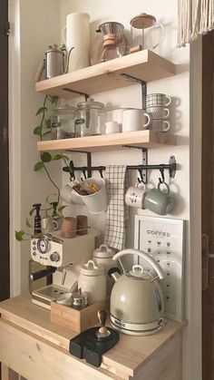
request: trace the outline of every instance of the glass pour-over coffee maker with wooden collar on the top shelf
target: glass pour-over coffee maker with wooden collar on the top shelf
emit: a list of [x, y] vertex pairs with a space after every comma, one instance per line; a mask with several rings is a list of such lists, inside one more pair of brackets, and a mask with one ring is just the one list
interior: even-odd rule
[[102, 54], [100, 62], [119, 58], [125, 54], [125, 40], [123, 37], [124, 26], [116, 22], [108, 22], [99, 25], [97, 33], [103, 34]]

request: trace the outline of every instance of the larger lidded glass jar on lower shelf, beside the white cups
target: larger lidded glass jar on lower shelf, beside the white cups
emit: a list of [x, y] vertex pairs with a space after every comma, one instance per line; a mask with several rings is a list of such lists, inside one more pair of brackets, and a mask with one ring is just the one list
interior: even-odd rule
[[102, 102], [93, 98], [77, 104], [75, 137], [94, 136], [105, 132], [105, 111]]

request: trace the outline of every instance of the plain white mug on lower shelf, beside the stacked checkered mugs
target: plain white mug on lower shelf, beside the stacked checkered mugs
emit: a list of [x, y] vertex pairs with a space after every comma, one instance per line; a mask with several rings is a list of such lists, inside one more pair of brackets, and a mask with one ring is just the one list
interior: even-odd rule
[[150, 125], [151, 115], [149, 113], [138, 108], [123, 110], [122, 132], [141, 131]]

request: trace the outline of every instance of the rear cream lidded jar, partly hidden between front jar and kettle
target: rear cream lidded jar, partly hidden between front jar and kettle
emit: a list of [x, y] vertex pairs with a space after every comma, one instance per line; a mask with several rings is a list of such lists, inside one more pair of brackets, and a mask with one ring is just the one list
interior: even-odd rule
[[112, 259], [114, 253], [114, 250], [105, 244], [102, 244], [101, 247], [93, 251], [93, 260], [96, 264], [102, 265], [104, 268], [104, 273], [107, 278], [107, 296], [111, 295], [113, 286], [113, 280], [108, 276], [108, 271], [111, 268], [117, 267], [117, 263]]

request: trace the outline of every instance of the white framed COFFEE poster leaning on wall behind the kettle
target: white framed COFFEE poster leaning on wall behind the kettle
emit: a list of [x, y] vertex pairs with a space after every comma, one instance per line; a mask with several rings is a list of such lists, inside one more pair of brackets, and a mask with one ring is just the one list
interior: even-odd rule
[[[183, 320], [183, 240], [184, 221], [180, 219], [135, 216], [134, 248], [148, 252], [165, 271], [160, 281], [164, 297], [166, 317]], [[139, 258], [135, 258], [135, 262]], [[139, 262], [139, 261], [138, 261]], [[153, 271], [143, 259], [144, 270]]]

